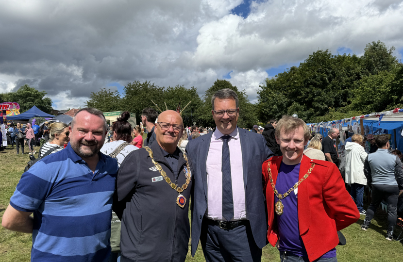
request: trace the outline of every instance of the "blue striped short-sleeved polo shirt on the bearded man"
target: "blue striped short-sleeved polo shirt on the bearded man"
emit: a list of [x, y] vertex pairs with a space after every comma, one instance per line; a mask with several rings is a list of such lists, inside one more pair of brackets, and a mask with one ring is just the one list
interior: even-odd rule
[[22, 174], [10, 205], [34, 213], [31, 261], [108, 261], [118, 163], [99, 156], [93, 173], [68, 143]]

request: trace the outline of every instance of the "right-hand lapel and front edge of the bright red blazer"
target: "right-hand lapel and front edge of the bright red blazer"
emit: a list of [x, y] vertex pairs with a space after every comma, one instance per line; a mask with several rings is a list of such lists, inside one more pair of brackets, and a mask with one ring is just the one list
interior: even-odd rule
[[[298, 179], [302, 179], [311, 167], [310, 159], [306, 156], [302, 157], [300, 166], [300, 175]], [[300, 226], [300, 235], [308, 231], [311, 224], [311, 211], [309, 208], [309, 177], [302, 181], [298, 186], [298, 221]]]

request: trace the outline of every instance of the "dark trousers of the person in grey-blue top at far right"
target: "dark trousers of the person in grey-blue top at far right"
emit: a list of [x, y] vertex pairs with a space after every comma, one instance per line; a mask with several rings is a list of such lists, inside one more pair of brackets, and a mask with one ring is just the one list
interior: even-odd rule
[[371, 220], [379, 207], [382, 199], [386, 197], [387, 209], [387, 229], [386, 234], [393, 234], [393, 227], [396, 224], [397, 199], [399, 197], [399, 187], [397, 185], [372, 185], [372, 201], [367, 209], [364, 225], [371, 224]]

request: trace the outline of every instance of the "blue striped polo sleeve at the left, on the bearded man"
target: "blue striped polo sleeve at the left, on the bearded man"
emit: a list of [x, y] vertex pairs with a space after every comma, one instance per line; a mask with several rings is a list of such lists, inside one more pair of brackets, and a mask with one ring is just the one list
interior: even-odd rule
[[49, 195], [54, 177], [45, 163], [37, 162], [22, 174], [10, 205], [19, 211], [34, 212]]

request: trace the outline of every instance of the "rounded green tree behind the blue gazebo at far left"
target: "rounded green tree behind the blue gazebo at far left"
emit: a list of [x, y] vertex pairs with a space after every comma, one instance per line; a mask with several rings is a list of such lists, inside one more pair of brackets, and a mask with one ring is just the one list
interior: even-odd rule
[[45, 97], [45, 91], [38, 91], [34, 87], [24, 84], [16, 92], [9, 93], [8, 102], [16, 102], [19, 104], [19, 112], [25, 111], [36, 106], [45, 113], [50, 114], [52, 110], [52, 100]]

